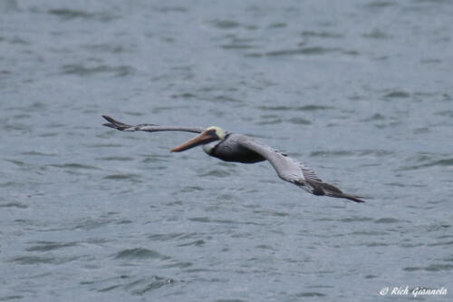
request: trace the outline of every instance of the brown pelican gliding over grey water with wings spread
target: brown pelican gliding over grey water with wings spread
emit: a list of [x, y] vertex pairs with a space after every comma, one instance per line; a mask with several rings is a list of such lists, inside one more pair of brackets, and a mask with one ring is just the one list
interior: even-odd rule
[[192, 128], [178, 126], [159, 126], [149, 123], [141, 123], [131, 126], [118, 122], [110, 116], [102, 115], [108, 123], [104, 126], [120, 130], [121, 132], [194, 132], [199, 133], [195, 138], [173, 148], [172, 152], [186, 151], [198, 145], [203, 145], [207, 155], [217, 157], [222, 161], [236, 161], [243, 163], [254, 163], [269, 161], [282, 180], [294, 183], [296, 186], [318, 196], [330, 196], [364, 202], [360, 196], [345, 194], [342, 190], [321, 180], [312, 169], [305, 167], [299, 161], [288, 157], [286, 154], [276, 151], [262, 142], [237, 133], [224, 132], [219, 127]]

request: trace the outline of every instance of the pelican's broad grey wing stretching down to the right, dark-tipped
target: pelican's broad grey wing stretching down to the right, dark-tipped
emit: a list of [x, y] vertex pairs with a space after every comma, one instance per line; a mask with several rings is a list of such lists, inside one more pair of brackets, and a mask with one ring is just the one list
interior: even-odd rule
[[324, 182], [316, 175], [314, 170], [305, 167], [301, 162], [279, 151], [275, 151], [264, 143], [254, 141], [245, 135], [236, 135], [236, 137], [237, 143], [242, 147], [255, 151], [269, 161], [282, 180], [294, 183], [314, 195], [326, 195], [355, 202], [364, 202], [359, 196], [345, 194], [342, 190]]

